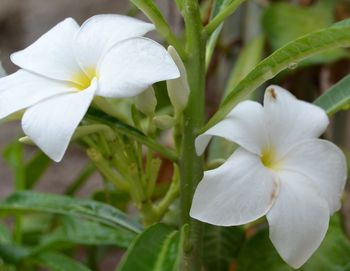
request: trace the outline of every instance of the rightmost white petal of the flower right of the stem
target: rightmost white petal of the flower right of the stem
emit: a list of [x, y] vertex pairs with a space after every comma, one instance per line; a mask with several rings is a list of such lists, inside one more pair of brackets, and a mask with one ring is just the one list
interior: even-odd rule
[[330, 213], [340, 208], [341, 195], [347, 178], [346, 159], [333, 143], [309, 139], [293, 146], [281, 162], [282, 170], [300, 173], [328, 202]]

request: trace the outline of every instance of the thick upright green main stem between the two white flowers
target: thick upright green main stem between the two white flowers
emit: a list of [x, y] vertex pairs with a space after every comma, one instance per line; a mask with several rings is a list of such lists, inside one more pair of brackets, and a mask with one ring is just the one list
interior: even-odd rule
[[180, 197], [182, 224], [188, 224], [190, 228], [184, 240], [181, 268], [183, 271], [198, 271], [201, 269], [202, 223], [192, 219], [189, 212], [194, 191], [203, 175], [203, 159], [197, 156], [194, 141], [197, 130], [203, 125], [204, 120], [206, 37], [203, 36], [198, 1], [184, 0], [183, 4], [188, 51], [188, 59], [185, 64], [191, 92], [187, 108], [184, 111], [180, 154]]

